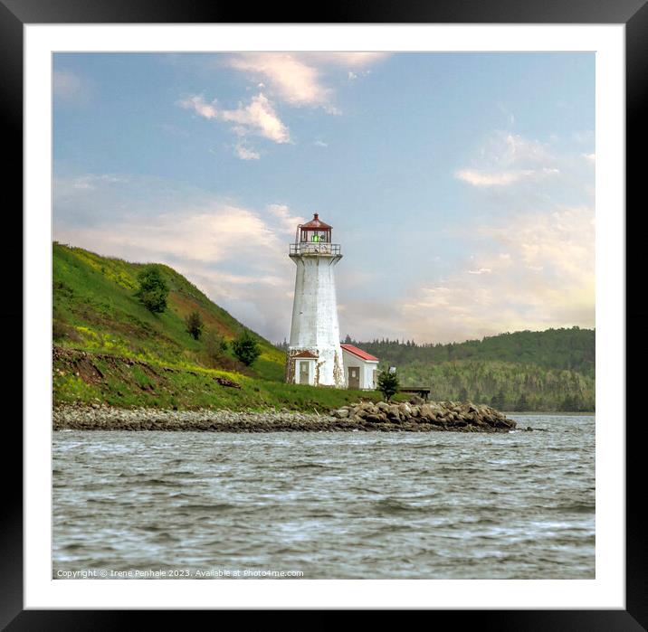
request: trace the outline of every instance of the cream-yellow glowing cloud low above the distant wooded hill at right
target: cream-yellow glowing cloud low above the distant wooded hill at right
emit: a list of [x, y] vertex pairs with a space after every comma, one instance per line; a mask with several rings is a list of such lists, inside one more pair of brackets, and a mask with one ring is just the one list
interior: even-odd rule
[[[475, 229], [480, 267], [423, 285], [396, 330], [419, 341], [462, 341], [502, 331], [595, 325], [595, 222], [588, 207], [520, 215]], [[506, 250], [502, 253], [502, 250]], [[502, 256], [502, 254], [504, 256]]]

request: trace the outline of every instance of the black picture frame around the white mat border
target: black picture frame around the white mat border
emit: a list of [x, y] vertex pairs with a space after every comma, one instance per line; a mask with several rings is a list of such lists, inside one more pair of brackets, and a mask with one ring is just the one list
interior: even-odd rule
[[[307, 6], [307, 5], [306, 5]], [[371, 4], [326, 4], [319, 14], [310, 14], [312, 7], [291, 7], [281, 13], [276, 5], [266, 5], [254, 10], [255, 24], [268, 23], [437, 23], [437, 24], [625, 24], [626, 33], [626, 192], [627, 199], [637, 198], [640, 173], [645, 153], [646, 133], [643, 111], [648, 109], [648, 4], [646, 0], [564, 0], [520, 2], [519, 0], [445, 0], [434, 4], [403, 1], [398, 3], [380, 0]], [[306, 9], [306, 10], [305, 10]], [[278, 13], [279, 12], [279, 13]], [[22, 203], [23, 173], [23, 26], [24, 24], [84, 24], [84, 23], [221, 23], [234, 24], [246, 20], [245, 9], [219, 3], [187, 3], [171, 0], [0, 0], [0, 108], [3, 114], [5, 156], [14, 156], [5, 165], [5, 191], [14, 190], [17, 203]], [[281, 18], [281, 19], [280, 19]], [[643, 150], [643, 151], [642, 151]], [[640, 154], [642, 152], [642, 154]], [[634, 161], [630, 159], [634, 156]], [[633, 195], [634, 193], [634, 195]], [[5, 194], [6, 197], [6, 194]], [[637, 198], [638, 199], [638, 198]], [[13, 245], [22, 247], [22, 222], [14, 213]], [[624, 210], [620, 210], [623, 218]], [[629, 217], [626, 214], [626, 217]], [[634, 238], [638, 240], [638, 232]], [[631, 237], [632, 232], [626, 231]], [[643, 249], [626, 247], [627, 269], [641, 269]], [[7, 250], [4, 252], [7, 257]], [[13, 269], [20, 252], [12, 255]], [[22, 259], [22, 257], [21, 257]], [[18, 259], [18, 260], [21, 260]], [[14, 307], [3, 309], [5, 331], [15, 330], [22, 322], [22, 278], [14, 273]], [[646, 323], [646, 307], [627, 308], [627, 325]], [[27, 335], [27, 332], [23, 332]], [[14, 336], [17, 338], [17, 336]], [[17, 346], [17, 340], [14, 340]], [[633, 353], [642, 355], [646, 343], [638, 340]], [[18, 355], [18, 350], [14, 357]], [[21, 350], [22, 351], [22, 350]], [[12, 362], [12, 373], [21, 375]], [[641, 372], [628, 374], [627, 391], [640, 391]], [[24, 376], [27, 378], [28, 376]], [[17, 410], [22, 417], [22, 410]], [[623, 431], [625, 414], [615, 420]], [[12, 423], [9, 423], [12, 421]], [[605, 422], [609, 422], [606, 420]], [[626, 432], [626, 603], [618, 610], [458, 610], [434, 611], [435, 618], [450, 616], [453, 625], [474, 623], [481, 629], [498, 630], [641, 630], [648, 627], [648, 563], [644, 524], [641, 512], [633, 512], [641, 502], [643, 472], [639, 469], [643, 448], [641, 437], [643, 419], [625, 426]], [[23, 445], [21, 427], [14, 419], [5, 422], [4, 468], [5, 497], [3, 498], [2, 532], [0, 533], [0, 627], [6, 630], [51, 629], [115, 629], [123, 625], [151, 627], [155, 612], [148, 610], [24, 610], [23, 605], [23, 495], [12, 483], [22, 471]], [[7, 453], [13, 453], [9, 459]], [[17, 459], [17, 460], [16, 460]], [[187, 618], [195, 611], [163, 611], [165, 625], [188, 624]], [[182, 619], [181, 619], [182, 618]], [[267, 620], [264, 623], [268, 623]], [[191, 625], [191, 624], [189, 624]]]

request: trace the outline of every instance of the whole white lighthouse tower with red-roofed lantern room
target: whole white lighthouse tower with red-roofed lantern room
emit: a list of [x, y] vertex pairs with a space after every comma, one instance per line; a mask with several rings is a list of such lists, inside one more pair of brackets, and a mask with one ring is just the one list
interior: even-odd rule
[[297, 266], [286, 382], [344, 388], [338, 301], [333, 270], [342, 259], [329, 224], [313, 219], [297, 227], [290, 257]]

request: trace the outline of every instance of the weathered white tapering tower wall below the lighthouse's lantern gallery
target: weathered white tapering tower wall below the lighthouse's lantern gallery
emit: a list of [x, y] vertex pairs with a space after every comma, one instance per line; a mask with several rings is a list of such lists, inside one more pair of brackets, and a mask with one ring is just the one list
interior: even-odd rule
[[310, 351], [318, 356], [314, 384], [343, 388], [345, 375], [334, 275], [334, 268], [342, 256], [300, 254], [291, 255], [291, 259], [297, 272], [286, 379], [288, 382], [299, 380], [291, 356]]

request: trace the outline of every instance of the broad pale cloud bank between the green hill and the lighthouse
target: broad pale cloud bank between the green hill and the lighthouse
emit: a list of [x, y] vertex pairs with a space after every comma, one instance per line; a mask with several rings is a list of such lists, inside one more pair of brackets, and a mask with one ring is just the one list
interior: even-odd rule
[[[80, 187], [91, 183], [91, 187]], [[184, 274], [245, 325], [274, 341], [290, 333], [294, 264], [304, 220], [286, 204], [260, 210], [179, 184], [134, 176], [58, 176], [53, 238]]]

